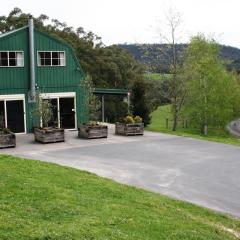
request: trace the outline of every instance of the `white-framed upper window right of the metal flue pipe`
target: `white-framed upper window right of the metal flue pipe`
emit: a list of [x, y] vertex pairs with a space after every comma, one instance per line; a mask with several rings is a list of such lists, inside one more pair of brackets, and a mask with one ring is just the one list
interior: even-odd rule
[[60, 51], [39, 51], [38, 66], [65, 66], [65, 52]]

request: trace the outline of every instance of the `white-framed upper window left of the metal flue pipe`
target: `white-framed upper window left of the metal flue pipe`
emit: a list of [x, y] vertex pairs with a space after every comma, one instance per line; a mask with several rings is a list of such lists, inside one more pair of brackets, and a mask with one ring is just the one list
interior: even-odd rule
[[23, 67], [22, 51], [0, 51], [0, 67]]

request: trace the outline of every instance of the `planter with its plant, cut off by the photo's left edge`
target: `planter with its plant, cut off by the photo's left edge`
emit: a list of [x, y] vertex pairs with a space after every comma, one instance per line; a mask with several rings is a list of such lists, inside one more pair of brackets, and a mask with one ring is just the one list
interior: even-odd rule
[[16, 136], [5, 128], [3, 114], [0, 114], [0, 148], [16, 147]]

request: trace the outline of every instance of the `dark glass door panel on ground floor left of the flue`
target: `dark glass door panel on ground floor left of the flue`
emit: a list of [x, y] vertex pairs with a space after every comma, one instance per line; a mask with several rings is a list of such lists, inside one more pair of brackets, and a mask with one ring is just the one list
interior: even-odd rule
[[7, 128], [14, 133], [25, 132], [23, 100], [6, 101]]

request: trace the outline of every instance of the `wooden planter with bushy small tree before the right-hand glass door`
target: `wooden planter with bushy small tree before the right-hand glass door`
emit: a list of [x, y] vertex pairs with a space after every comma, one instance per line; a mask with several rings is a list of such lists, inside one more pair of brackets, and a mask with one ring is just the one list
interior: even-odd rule
[[49, 99], [42, 99], [38, 93], [36, 96], [36, 107], [33, 114], [37, 117], [38, 122], [38, 126], [34, 127], [34, 137], [36, 142], [64, 142], [64, 129], [49, 126], [49, 122], [53, 118], [53, 106]]

